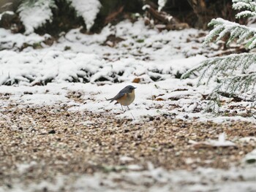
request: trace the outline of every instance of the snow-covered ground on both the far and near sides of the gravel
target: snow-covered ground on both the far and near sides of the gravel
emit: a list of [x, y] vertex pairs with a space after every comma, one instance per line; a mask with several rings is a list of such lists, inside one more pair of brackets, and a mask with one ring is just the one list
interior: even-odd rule
[[[12, 102], [21, 108], [59, 104], [67, 105], [70, 112], [104, 112], [135, 121], [167, 115], [183, 120], [255, 122], [255, 118], [248, 115], [249, 111], [254, 112], [251, 102], [246, 100], [250, 96], [244, 94], [241, 96], [244, 100], [239, 102], [223, 97], [224, 115], [216, 116], [203, 112], [212, 85], [195, 87], [196, 79], [179, 79], [181, 73], [212, 54], [214, 48], [202, 47], [205, 33], [195, 29], [159, 32], [146, 28], [143, 20], [135, 23], [125, 20], [117, 26], [105, 27], [101, 34], [86, 35], [73, 29], [48, 46], [44, 43], [47, 35], [24, 36], [0, 29], [0, 93], [9, 98], [0, 100], [0, 106]], [[24, 43], [29, 46], [24, 47]], [[34, 49], [33, 45], [42, 48]], [[137, 88], [136, 98], [130, 110], [122, 112], [119, 105], [105, 99], [115, 96], [126, 85]], [[193, 172], [167, 172], [149, 167], [143, 172], [84, 175], [69, 187], [71, 191], [114, 191], [118, 185], [135, 183], [142, 185], [141, 188], [123, 186], [124, 191], [126, 188], [146, 191], [148, 185], [152, 186], [151, 191], [159, 191], [160, 187], [162, 191], [256, 191], [255, 173], [255, 166]], [[141, 180], [136, 180], [138, 177]], [[246, 182], [242, 182], [241, 177]], [[58, 191], [65, 185], [65, 176], [58, 178], [61, 184], [49, 187], [50, 191]], [[121, 183], [113, 183], [115, 179]], [[154, 186], [154, 183], [157, 184]], [[44, 185], [48, 184], [42, 183]], [[34, 191], [32, 185], [22, 188], [14, 184], [10, 191]], [[0, 188], [0, 191], [7, 189]]]

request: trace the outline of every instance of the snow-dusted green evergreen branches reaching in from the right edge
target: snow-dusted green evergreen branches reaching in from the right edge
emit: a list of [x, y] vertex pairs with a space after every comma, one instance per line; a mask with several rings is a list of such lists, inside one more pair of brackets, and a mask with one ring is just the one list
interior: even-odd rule
[[[233, 9], [240, 12], [236, 18], [256, 15], [256, 3], [252, 0], [233, 0]], [[244, 45], [247, 50], [256, 47], [256, 29], [233, 23], [222, 18], [211, 20], [208, 26], [214, 28], [206, 36], [204, 44], [224, 40], [226, 45], [231, 42]], [[198, 85], [211, 79], [219, 82], [211, 94], [211, 99], [217, 99], [218, 93], [233, 94], [254, 92], [256, 82], [256, 53], [240, 53], [221, 57], [208, 58], [195, 68], [183, 74], [187, 78], [195, 72], [200, 72]]]

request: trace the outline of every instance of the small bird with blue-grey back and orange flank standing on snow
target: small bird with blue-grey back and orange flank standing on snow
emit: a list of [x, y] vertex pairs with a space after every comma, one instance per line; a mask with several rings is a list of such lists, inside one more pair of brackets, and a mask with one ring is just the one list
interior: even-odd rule
[[135, 100], [135, 87], [128, 85], [123, 88], [116, 96], [107, 99], [107, 101], [110, 101], [110, 103], [115, 100], [117, 101], [115, 104], [121, 104], [121, 109], [124, 110], [123, 105], [128, 107], [128, 105]]

